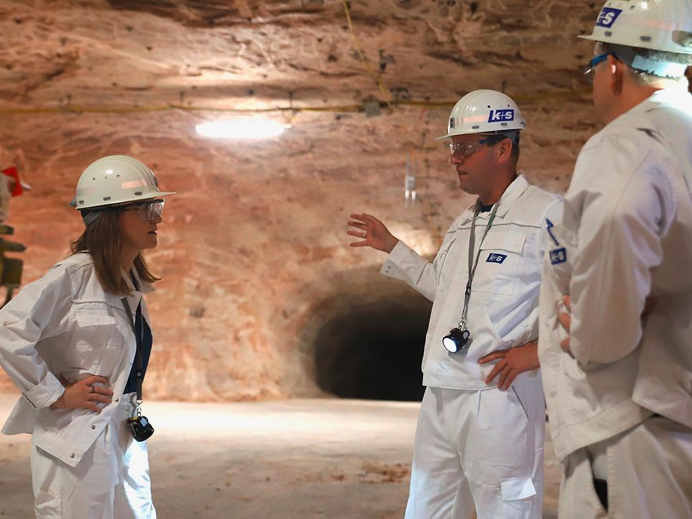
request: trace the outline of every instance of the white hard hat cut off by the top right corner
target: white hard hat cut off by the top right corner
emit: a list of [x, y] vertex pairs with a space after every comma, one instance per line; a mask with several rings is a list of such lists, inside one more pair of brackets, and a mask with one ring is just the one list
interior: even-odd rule
[[608, 0], [593, 33], [580, 38], [692, 54], [691, 0]]

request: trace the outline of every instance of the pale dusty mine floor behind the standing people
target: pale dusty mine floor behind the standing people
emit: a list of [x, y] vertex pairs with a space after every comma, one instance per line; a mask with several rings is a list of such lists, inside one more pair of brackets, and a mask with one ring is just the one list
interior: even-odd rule
[[[0, 395], [0, 420], [14, 403]], [[401, 518], [418, 404], [147, 402], [159, 517]], [[559, 470], [546, 445], [544, 517]], [[30, 519], [29, 436], [0, 436], [0, 516]]]

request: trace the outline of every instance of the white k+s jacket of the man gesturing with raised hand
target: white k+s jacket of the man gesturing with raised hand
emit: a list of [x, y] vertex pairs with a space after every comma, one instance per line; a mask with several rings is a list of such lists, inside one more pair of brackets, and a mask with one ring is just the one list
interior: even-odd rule
[[[474, 207], [449, 228], [432, 263], [405, 243], [392, 250], [382, 274], [404, 280], [432, 301], [430, 326], [422, 360], [423, 385], [461, 390], [485, 390], [493, 365], [478, 359], [495, 350], [521, 346], [538, 337], [538, 294], [546, 217], [557, 219], [560, 199], [518, 176], [500, 199], [495, 221], [480, 244], [490, 212], [478, 214], [475, 250], [481, 247], [468, 310], [470, 340], [467, 354], [449, 355], [442, 340], [458, 325], [468, 280], [468, 245]], [[499, 255], [499, 256], [498, 256]], [[495, 261], [493, 261], [495, 259]], [[500, 261], [501, 262], [498, 262]], [[524, 372], [515, 384], [536, 379], [538, 370]]]

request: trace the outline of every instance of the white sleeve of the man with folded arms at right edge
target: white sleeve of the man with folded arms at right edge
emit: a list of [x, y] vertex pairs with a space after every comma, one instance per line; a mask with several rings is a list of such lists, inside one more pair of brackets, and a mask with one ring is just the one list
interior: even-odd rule
[[636, 139], [605, 144], [567, 194], [580, 214], [569, 290], [570, 347], [582, 364], [617, 362], [637, 347], [651, 269], [675, 212], [661, 154], [637, 149]]

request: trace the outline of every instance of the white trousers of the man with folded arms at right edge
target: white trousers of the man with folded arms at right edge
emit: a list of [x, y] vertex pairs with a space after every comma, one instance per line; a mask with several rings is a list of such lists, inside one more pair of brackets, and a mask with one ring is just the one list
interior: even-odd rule
[[692, 429], [653, 416], [597, 445], [605, 447], [608, 512], [582, 448], [563, 463], [560, 519], [692, 518]]

